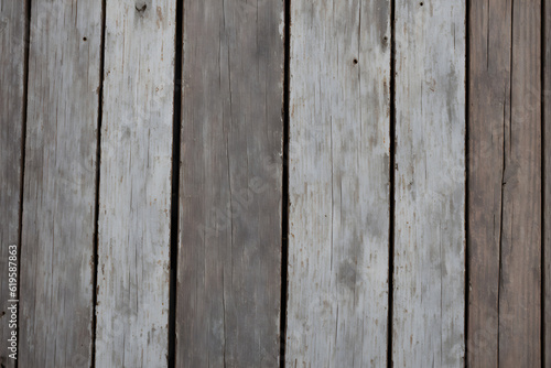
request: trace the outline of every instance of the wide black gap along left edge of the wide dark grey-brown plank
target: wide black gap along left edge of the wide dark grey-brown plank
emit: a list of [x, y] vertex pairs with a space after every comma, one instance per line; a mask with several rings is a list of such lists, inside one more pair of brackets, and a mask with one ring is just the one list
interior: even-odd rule
[[180, 206], [180, 136], [182, 129], [182, 53], [183, 53], [183, 0], [176, 0], [175, 55], [174, 55], [174, 101], [172, 128], [172, 193], [170, 226], [170, 301], [169, 301], [169, 367], [176, 365], [176, 291], [177, 291], [177, 242]]

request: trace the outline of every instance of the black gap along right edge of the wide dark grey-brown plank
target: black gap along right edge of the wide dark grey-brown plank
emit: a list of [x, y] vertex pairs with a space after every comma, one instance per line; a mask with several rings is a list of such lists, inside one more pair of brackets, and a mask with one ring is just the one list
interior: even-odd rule
[[283, 173], [281, 191], [281, 307], [280, 367], [285, 367], [287, 303], [289, 300], [289, 94], [291, 62], [291, 0], [284, 1], [284, 66], [283, 66]]

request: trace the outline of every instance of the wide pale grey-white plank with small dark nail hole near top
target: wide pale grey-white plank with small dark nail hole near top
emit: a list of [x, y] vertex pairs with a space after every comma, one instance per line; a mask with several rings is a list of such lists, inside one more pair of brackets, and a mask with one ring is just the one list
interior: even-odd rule
[[390, 2], [291, 2], [290, 367], [386, 367]]

